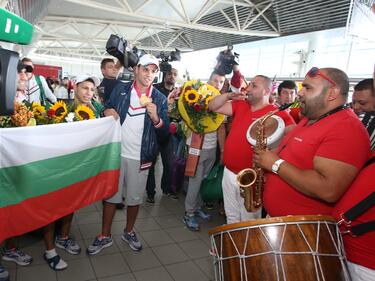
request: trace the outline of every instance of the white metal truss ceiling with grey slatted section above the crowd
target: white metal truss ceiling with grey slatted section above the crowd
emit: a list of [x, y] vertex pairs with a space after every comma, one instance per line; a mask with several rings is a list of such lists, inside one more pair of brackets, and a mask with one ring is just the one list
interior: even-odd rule
[[[34, 14], [40, 3], [53, 1], [36, 0], [31, 5], [27, 0], [9, 0], [18, 2], [18, 7], [32, 8]], [[81, 13], [82, 16], [70, 17], [54, 11], [55, 7], [48, 9], [54, 15], [46, 15], [43, 8], [42, 15], [36, 17], [40, 18], [37, 30], [41, 34], [36, 52], [98, 60], [106, 55], [103, 50], [108, 35], [124, 35], [124, 31], [128, 42], [139, 49], [160, 52], [179, 48], [188, 52], [345, 26], [350, 0], [64, 0], [58, 3], [65, 8], [71, 5], [75, 10], [90, 8], [100, 11], [102, 16], [95, 18]], [[165, 6], [168, 16], [152, 13], [158, 4]], [[25, 9], [20, 8], [21, 15]], [[92, 30], [87, 26], [92, 26]]]

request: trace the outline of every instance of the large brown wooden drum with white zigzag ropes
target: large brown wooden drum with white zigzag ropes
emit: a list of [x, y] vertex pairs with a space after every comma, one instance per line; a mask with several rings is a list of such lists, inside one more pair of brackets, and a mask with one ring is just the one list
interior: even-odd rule
[[246, 221], [216, 227], [209, 235], [216, 280], [350, 280], [332, 217]]

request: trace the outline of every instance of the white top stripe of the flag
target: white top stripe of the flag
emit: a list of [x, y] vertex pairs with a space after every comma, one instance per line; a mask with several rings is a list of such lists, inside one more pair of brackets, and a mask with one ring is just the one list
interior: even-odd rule
[[113, 117], [0, 129], [0, 169], [120, 141], [120, 121]]

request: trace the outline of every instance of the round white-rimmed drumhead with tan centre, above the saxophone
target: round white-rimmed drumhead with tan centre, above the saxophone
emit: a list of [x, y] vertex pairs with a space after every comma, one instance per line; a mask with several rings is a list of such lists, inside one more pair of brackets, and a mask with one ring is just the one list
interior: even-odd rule
[[[262, 117], [261, 117], [262, 118]], [[259, 120], [254, 121], [246, 132], [246, 139], [252, 145], [256, 145], [256, 134], [257, 134], [257, 125]], [[265, 122], [265, 136], [267, 137], [267, 146], [272, 147], [274, 144], [278, 143], [283, 136], [285, 129], [284, 120], [277, 115], [272, 115]]]

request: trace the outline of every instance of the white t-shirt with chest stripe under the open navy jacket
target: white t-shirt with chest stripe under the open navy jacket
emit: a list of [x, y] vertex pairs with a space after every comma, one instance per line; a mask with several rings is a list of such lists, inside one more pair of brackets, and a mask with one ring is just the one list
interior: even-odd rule
[[[150, 93], [152, 92], [152, 87]], [[142, 135], [146, 108], [139, 102], [137, 91], [132, 88], [130, 105], [124, 123], [121, 126], [121, 156], [140, 160]]]

